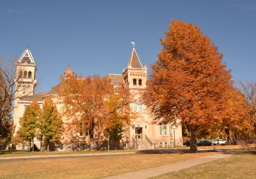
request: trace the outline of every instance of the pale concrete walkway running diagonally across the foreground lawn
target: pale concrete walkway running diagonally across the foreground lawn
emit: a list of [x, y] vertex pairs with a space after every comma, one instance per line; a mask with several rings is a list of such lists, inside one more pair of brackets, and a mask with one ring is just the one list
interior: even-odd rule
[[172, 171], [178, 171], [180, 169], [185, 169], [188, 167], [193, 167], [199, 164], [204, 164], [206, 162], [212, 162], [214, 160], [218, 159], [223, 159], [225, 157], [229, 157], [231, 155], [229, 154], [223, 154], [223, 153], [218, 153], [215, 155], [209, 155], [205, 157], [200, 157], [197, 159], [191, 159], [191, 160], [185, 160], [182, 162], [177, 162], [173, 164], [167, 164], [164, 166], [160, 167], [154, 167], [150, 169], [143, 169], [139, 171], [133, 171], [130, 173], [125, 173], [122, 175], [116, 175], [116, 176], [109, 176], [105, 179], [127, 179], [127, 178], [132, 178], [132, 179], [143, 179], [143, 178], [150, 178], [153, 176], [159, 176], [163, 175], [164, 173], [170, 173]]

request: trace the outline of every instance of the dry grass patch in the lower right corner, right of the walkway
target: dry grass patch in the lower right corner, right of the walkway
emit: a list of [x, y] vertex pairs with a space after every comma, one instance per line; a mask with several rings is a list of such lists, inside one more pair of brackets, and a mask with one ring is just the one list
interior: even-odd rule
[[256, 178], [256, 153], [233, 155], [188, 169], [157, 176], [166, 178]]

